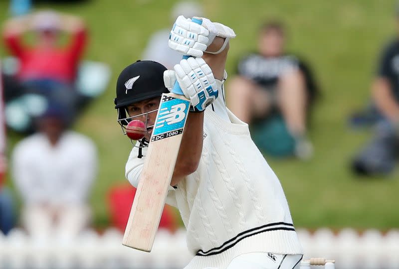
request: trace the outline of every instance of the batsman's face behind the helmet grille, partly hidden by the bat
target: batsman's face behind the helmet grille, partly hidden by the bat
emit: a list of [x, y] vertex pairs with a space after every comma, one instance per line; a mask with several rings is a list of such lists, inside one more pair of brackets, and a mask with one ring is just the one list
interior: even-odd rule
[[144, 136], [147, 140], [153, 132], [155, 118], [157, 117], [158, 107], [161, 98], [151, 98], [141, 102], [134, 103], [127, 107], [127, 112], [131, 120], [139, 120], [146, 124], [147, 134]]

